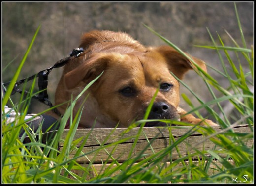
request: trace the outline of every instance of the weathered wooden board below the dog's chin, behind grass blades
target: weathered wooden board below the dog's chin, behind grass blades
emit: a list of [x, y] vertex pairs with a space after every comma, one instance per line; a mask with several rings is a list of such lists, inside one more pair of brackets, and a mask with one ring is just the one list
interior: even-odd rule
[[[80, 164], [88, 164], [90, 161], [93, 161], [94, 164], [105, 162], [107, 160], [108, 163], [112, 162], [112, 159], [109, 157], [108, 153], [111, 153], [114, 159], [117, 159], [119, 163], [124, 162], [130, 156], [138, 155], [142, 150], [144, 151], [145, 157], [149, 157], [154, 153], [159, 152], [166, 147], [169, 147], [173, 144], [172, 138], [170, 138], [171, 134], [173, 138], [178, 140], [181, 136], [188, 133], [192, 127], [172, 127], [171, 133], [167, 127], [147, 127], [143, 128], [143, 131], [138, 135], [140, 128], [133, 128], [129, 132], [124, 133], [127, 128], [117, 128], [117, 129], [78, 129], [74, 140], [81, 137], [88, 137], [86, 143], [83, 145], [82, 152], [86, 154], [86, 156], [82, 156], [77, 159], [77, 162]], [[214, 127], [215, 133], [225, 133], [224, 129], [219, 127]], [[249, 133], [251, 132], [250, 127], [247, 125], [242, 125], [232, 129], [235, 133]], [[69, 130], [64, 130], [62, 134], [62, 138], [65, 139]], [[133, 148], [134, 140], [136, 140], [136, 136], [138, 137], [138, 141], [136, 146]], [[145, 137], [147, 136], [147, 137]], [[106, 138], [108, 140], [106, 140]], [[122, 143], [117, 144], [116, 146], [108, 146], [106, 148], [102, 148], [101, 144], [107, 145], [116, 143], [120, 139], [124, 140]], [[151, 146], [149, 146], [149, 142]], [[253, 145], [253, 140], [246, 141], [248, 146]], [[60, 150], [62, 149], [63, 143], [60, 143]], [[81, 142], [76, 145], [78, 148], [81, 146]], [[197, 131], [192, 133], [190, 137], [186, 138], [182, 143], [180, 143], [177, 147], [179, 149], [179, 153], [175, 148], [170, 151], [170, 156], [173, 160], [178, 159], [179, 156], [185, 156], [189, 152], [190, 154], [195, 152], [195, 147], [199, 151], [210, 150], [214, 148], [214, 143], [212, 143], [209, 139], [205, 139], [205, 137]], [[99, 150], [100, 149], [100, 150]], [[152, 150], [153, 149], [153, 150]], [[72, 151], [69, 158], [72, 158], [75, 155], [76, 151]], [[225, 156], [225, 155], [221, 155]], [[170, 157], [167, 157], [170, 158]], [[194, 157], [197, 159], [198, 157]], [[143, 158], [142, 158], [143, 159]], [[142, 160], [138, 159], [138, 161]]]

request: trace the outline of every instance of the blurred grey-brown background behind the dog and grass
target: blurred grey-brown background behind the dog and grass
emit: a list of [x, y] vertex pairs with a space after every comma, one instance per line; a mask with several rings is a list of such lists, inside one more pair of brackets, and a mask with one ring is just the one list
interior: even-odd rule
[[[238, 2], [236, 6], [247, 47], [250, 48], [254, 41], [254, 2]], [[225, 30], [243, 46], [232, 2], [2, 2], [2, 81], [12, 79], [39, 25], [41, 28], [18, 80], [38, 73], [67, 57], [73, 48], [78, 47], [82, 34], [94, 29], [123, 31], [144, 45], [165, 45], [143, 24], [184, 52], [204, 60], [206, 64], [220, 71], [221, 62], [216, 51], [194, 46], [212, 45], [206, 28], [216, 41], [217, 32], [226, 46], [234, 44]], [[235, 53], [230, 55], [236, 59]], [[244, 61], [241, 63], [247, 72], [248, 64]], [[61, 73], [62, 68], [59, 68], [52, 70], [49, 75], [48, 94], [52, 103]], [[208, 73], [224, 87], [228, 86], [218, 73], [211, 69]], [[186, 74], [184, 82], [204, 102], [212, 100], [206, 85], [195, 72]], [[194, 106], [199, 105], [183, 86], [181, 93], [185, 93]], [[218, 96], [217, 92], [216, 94]], [[12, 97], [14, 102], [19, 98], [17, 93]], [[181, 107], [190, 110], [183, 99]], [[46, 108], [48, 107], [34, 100], [30, 112], [36, 113]], [[200, 111], [207, 116], [204, 109]]]

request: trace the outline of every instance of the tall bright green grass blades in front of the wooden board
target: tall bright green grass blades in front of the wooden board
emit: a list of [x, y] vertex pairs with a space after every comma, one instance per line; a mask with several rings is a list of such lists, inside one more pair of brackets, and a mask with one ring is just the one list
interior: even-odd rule
[[[16, 121], [14, 122], [15, 125], [10, 125], [6, 122], [8, 113], [2, 114], [2, 183], [234, 183], [235, 178], [242, 178], [242, 181], [245, 181], [244, 178], [246, 178], [244, 183], [253, 183], [253, 147], [248, 147], [245, 144], [245, 141], [253, 138], [254, 102], [253, 90], [250, 88], [250, 86], [253, 86], [253, 47], [249, 49], [247, 48], [237, 10], [236, 14], [239, 30], [241, 30], [241, 39], [243, 42], [242, 47], [233, 40], [229, 33], [227, 34], [234, 42], [234, 47], [225, 46], [219, 35], [218, 42], [220, 45], [218, 45], [209, 30], [208, 32], [211, 36], [213, 45], [200, 46], [217, 52], [224, 72], [220, 72], [219, 69], [214, 68], [213, 70], [219, 73], [223, 79], [228, 80], [229, 87], [226, 88], [220, 86], [217, 80], [197, 67], [195, 69], [196, 72], [202, 77], [213, 97], [212, 101], [204, 103], [196, 94], [193, 93], [189, 86], [179, 80], [180, 83], [187, 87], [201, 103], [201, 106], [195, 108], [189, 98], [186, 95], [182, 95], [184, 100], [192, 107], [192, 110], [189, 113], [195, 112], [198, 114], [198, 117], [202, 117], [199, 115], [197, 110], [205, 107], [223, 130], [216, 132], [215, 129], [211, 127], [191, 126], [190, 130], [185, 135], [176, 139], [172, 134], [172, 129], [179, 128], [180, 126], [170, 126], [168, 127], [170, 132], [169, 146], [158, 152], [154, 152], [152, 143], [158, 136], [158, 134], [156, 134], [156, 137], [148, 140], [148, 144], [144, 147], [144, 150], [136, 156], [132, 155], [132, 150], [136, 147], [139, 136], [141, 134], [145, 135], [143, 125], [145, 122], [150, 121], [147, 120], [148, 112], [145, 114], [144, 120], [135, 122], [128, 129], [124, 130], [120, 140], [108, 144], [106, 142], [111, 137], [111, 134], [116, 130], [116, 128], [113, 128], [112, 132], [105, 140], [103, 140], [103, 142], [98, 141], [99, 146], [93, 151], [82, 152], [82, 147], [87, 143], [89, 135], [93, 129], [91, 129], [91, 132], [88, 133], [88, 135], [79, 139], [74, 139], [83, 107], [81, 107], [80, 112], [76, 115], [73, 115], [72, 108], [76, 104], [77, 99], [90, 87], [91, 84], [95, 82], [95, 80], [86, 86], [83, 92], [81, 92], [81, 94], [71, 102], [70, 107], [61, 119], [60, 128], [56, 132], [54, 138], [48, 141], [48, 143], [45, 144], [42, 142], [43, 134], [40, 128], [36, 132], [27, 128], [27, 125], [25, 124], [27, 121], [24, 121], [24, 116], [27, 113], [30, 99], [33, 95], [35, 80], [32, 83], [30, 95], [25, 97], [25, 101], [20, 100], [20, 103], [11, 104], [10, 93], [15, 81], [17, 80], [21, 67], [24, 64], [26, 56], [29, 53], [31, 48], [29, 47], [20, 68], [17, 70], [12, 80], [12, 83], [8, 87], [5, 95], [3, 95], [2, 109], [4, 109], [4, 106], [9, 101], [11, 107], [13, 107], [16, 112], [23, 114], [20, 116], [17, 115]], [[183, 55], [186, 55], [166, 38], [160, 36], [151, 28], [149, 29], [168, 45], [174, 47]], [[38, 30], [36, 31], [36, 34]], [[31, 46], [35, 36], [32, 39]], [[224, 52], [225, 58], [222, 57], [221, 51]], [[229, 52], [235, 52], [237, 54], [237, 59], [235, 61], [238, 61], [238, 64], [231, 60]], [[245, 72], [240, 64], [240, 60], [242, 59], [239, 58], [240, 55], [238, 54], [242, 54], [243, 60], [248, 62], [248, 72]], [[190, 58], [190, 56], [187, 57]], [[225, 60], [229, 62], [229, 66], [224, 64]], [[239, 66], [238, 68], [236, 67], [237, 65]], [[228, 73], [227, 68], [232, 70], [235, 78], [232, 78], [233, 76]], [[217, 97], [214, 94], [213, 89], [218, 90], [222, 96]], [[152, 100], [154, 100], [154, 98]], [[230, 112], [226, 113], [224, 107], [221, 106], [221, 102], [223, 101], [228, 101], [232, 106], [232, 110]], [[212, 106], [217, 106], [220, 113], [217, 113], [212, 109]], [[148, 108], [148, 111], [149, 110], [150, 106]], [[42, 113], [46, 111], [43, 111]], [[38, 113], [38, 115], [42, 113]], [[236, 114], [235, 122], [232, 122], [234, 121], [233, 117], [231, 117], [232, 113]], [[64, 126], [68, 120], [70, 120], [70, 130], [68, 131], [66, 139], [62, 139]], [[184, 125], [184, 123], [179, 121], [164, 120], [164, 122], [166, 122], [166, 124], [174, 123], [177, 125]], [[240, 124], [247, 124], [250, 126], [251, 132], [242, 134], [235, 133], [233, 131], [233, 127]], [[135, 136], [124, 137], [126, 133], [138, 125], [140, 125], [140, 128]], [[19, 131], [21, 128], [23, 128], [29, 136], [31, 140], [30, 143], [24, 142], [24, 135], [19, 137]], [[204, 136], [201, 143], [204, 143], [205, 139], [210, 139], [215, 144], [216, 148], [198, 151], [196, 148], [197, 144], [194, 144], [191, 147], [191, 149], [194, 150], [193, 152], [191, 151], [192, 153], [188, 150], [186, 156], [181, 156], [180, 154], [179, 159], [172, 160], [170, 152], [176, 150], [179, 153], [178, 145], [184, 143], [185, 140], [195, 132], [199, 132]], [[119, 144], [127, 142], [131, 138], [134, 140], [134, 143], [128, 159], [123, 163], [119, 163], [118, 159], [113, 158], [113, 154]], [[64, 143], [62, 149], [59, 149], [59, 142]], [[77, 144], [81, 145], [76, 146]], [[112, 147], [112, 150], [108, 151], [108, 147]], [[154, 153], [151, 156], [145, 156], [145, 151], [147, 149], [151, 149]], [[73, 158], [70, 158], [70, 153], [73, 150], [75, 150], [76, 153]], [[93, 164], [98, 152], [101, 150], [106, 151], [109, 157], [106, 161], [102, 162], [104, 169], [102, 168], [100, 172], [97, 172]], [[86, 167], [76, 162], [78, 158], [87, 158], [87, 156], [92, 153], [94, 153], [95, 156], [92, 159], [88, 159], [90, 163]], [[210, 154], [211, 156], [206, 154]], [[226, 158], [223, 158], [220, 154], [226, 154], [227, 156]], [[166, 159], [166, 157], [169, 158]], [[193, 157], [200, 158], [198, 158], [195, 163], [193, 161]], [[138, 162], [138, 159], [143, 160]], [[234, 164], [230, 163], [229, 159], [233, 159]], [[215, 164], [214, 160], [218, 160], [220, 165]], [[168, 161], [171, 161], [171, 163], [168, 164]], [[107, 162], [110, 163], [107, 165]], [[210, 174], [211, 165], [213, 164], [216, 168], [214, 170], [214, 174]], [[80, 173], [82, 174], [77, 174], [73, 170], [80, 170]], [[90, 172], [92, 171], [96, 174], [94, 178], [90, 177]]]

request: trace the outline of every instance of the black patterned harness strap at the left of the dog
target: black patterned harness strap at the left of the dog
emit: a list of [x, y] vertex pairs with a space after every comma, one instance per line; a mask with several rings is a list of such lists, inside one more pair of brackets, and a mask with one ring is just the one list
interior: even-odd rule
[[[16, 92], [22, 93], [22, 90], [18, 88], [18, 85], [23, 84], [24, 82], [33, 80], [34, 78], [38, 77], [38, 88], [39, 88], [39, 95], [34, 95], [32, 98], [39, 100], [40, 102], [44, 103], [45, 105], [49, 106], [50, 108], [53, 107], [50, 100], [48, 100], [48, 94], [47, 94], [47, 86], [48, 86], [48, 75], [54, 68], [60, 68], [67, 64], [71, 58], [77, 58], [81, 53], [84, 52], [83, 48], [75, 48], [69, 55], [69, 57], [66, 57], [64, 59], [61, 59], [57, 61], [52, 67], [49, 67], [45, 70], [40, 71], [37, 74], [34, 74], [28, 78], [24, 78], [18, 82], [15, 83], [11, 95], [15, 94]], [[5, 90], [5, 87], [7, 87], [10, 84], [11, 81], [7, 83], [3, 83], [3, 90]], [[24, 91], [25, 95], [28, 95], [28, 91]], [[55, 108], [53, 111], [59, 115], [62, 116], [61, 113]]]

